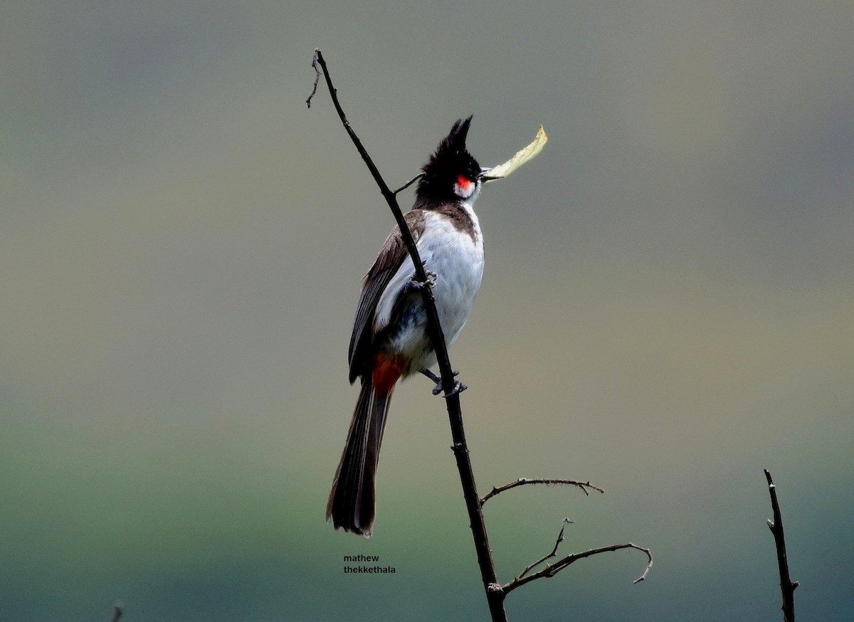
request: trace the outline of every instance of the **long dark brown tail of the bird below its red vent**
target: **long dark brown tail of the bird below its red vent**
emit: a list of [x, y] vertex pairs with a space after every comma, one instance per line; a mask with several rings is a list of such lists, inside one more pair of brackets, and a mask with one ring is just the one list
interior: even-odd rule
[[335, 528], [371, 537], [374, 520], [374, 478], [377, 473], [379, 448], [395, 385], [377, 389], [371, 375], [362, 378], [362, 388], [347, 445], [332, 480], [326, 520], [332, 519]]

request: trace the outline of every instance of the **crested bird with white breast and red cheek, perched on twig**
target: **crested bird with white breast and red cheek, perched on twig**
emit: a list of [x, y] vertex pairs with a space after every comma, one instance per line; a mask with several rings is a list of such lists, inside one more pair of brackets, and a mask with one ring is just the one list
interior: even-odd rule
[[[471, 116], [459, 119], [421, 168], [412, 210], [404, 216], [427, 282], [418, 282], [395, 227], [362, 281], [348, 349], [349, 381], [361, 386], [341, 460], [332, 481], [326, 520], [370, 538], [375, 476], [395, 385], [418, 374], [436, 375], [420, 289], [430, 287], [448, 346], [463, 329], [483, 278], [483, 233], [473, 205], [488, 169], [468, 152]], [[434, 393], [438, 392], [438, 385]], [[465, 388], [456, 383], [455, 390]]]

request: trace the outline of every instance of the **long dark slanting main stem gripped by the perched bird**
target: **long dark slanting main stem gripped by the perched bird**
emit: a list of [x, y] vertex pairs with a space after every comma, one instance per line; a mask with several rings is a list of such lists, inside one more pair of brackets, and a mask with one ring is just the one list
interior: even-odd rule
[[[412, 240], [412, 233], [409, 231], [406, 220], [403, 218], [401, 207], [397, 204], [395, 193], [383, 180], [368, 155], [365, 148], [362, 146], [359, 137], [350, 126], [347, 116], [344, 114], [341, 104], [338, 102], [337, 91], [332, 85], [332, 80], [329, 75], [329, 70], [326, 67], [326, 61], [320, 49], [314, 50], [314, 58], [312, 67], [314, 71], [320, 74], [320, 69], [323, 70], [326, 85], [329, 87], [329, 93], [332, 98], [332, 103], [335, 106], [338, 117], [341, 119], [344, 129], [347, 131], [350, 139], [353, 141], [356, 149], [359, 151], [362, 160], [374, 181], [379, 187], [380, 193], [385, 201], [389, 204], [391, 212], [395, 215], [397, 226], [401, 230], [401, 237], [407, 246], [409, 256], [412, 258], [412, 264], [415, 267], [415, 274], [418, 281], [426, 281], [427, 275], [424, 272], [424, 264], [421, 263], [421, 258], [418, 256], [418, 248], [415, 247], [415, 241]], [[315, 88], [317, 81], [315, 81]], [[314, 91], [312, 91], [314, 95]], [[307, 104], [311, 106], [311, 96], [307, 100]], [[465, 507], [468, 509], [469, 521], [471, 526], [471, 535], [474, 538], [475, 551], [477, 553], [477, 564], [480, 567], [481, 578], [483, 579], [483, 588], [486, 591], [489, 613], [494, 622], [505, 621], [506, 613], [504, 611], [505, 593], [500, 589], [498, 578], [495, 575], [495, 566], [492, 561], [492, 552], [489, 549], [487, 538], [486, 525], [483, 522], [483, 511], [481, 509], [480, 497], [477, 496], [477, 487], [475, 485], [474, 473], [471, 470], [471, 460], [469, 459], [469, 450], [465, 443], [465, 430], [463, 428], [463, 415], [459, 405], [459, 392], [454, 392], [453, 370], [451, 368], [450, 359], [447, 356], [447, 345], [445, 336], [442, 334], [442, 325], [439, 323], [439, 314], [436, 311], [436, 301], [433, 299], [433, 292], [430, 288], [422, 288], [421, 296], [424, 300], [424, 310], [427, 312], [427, 332], [430, 334], [430, 341], [433, 345], [433, 350], [436, 352], [436, 360], [439, 364], [439, 371], [442, 375], [442, 389], [445, 392], [445, 403], [447, 405], [447, 416], [451, 424], [451, 437], [453, 439], [453, 455], [457, 460], [457, 470], [459, 471], [459, 480], [463, 486], [463, 497], [465, 498]]]

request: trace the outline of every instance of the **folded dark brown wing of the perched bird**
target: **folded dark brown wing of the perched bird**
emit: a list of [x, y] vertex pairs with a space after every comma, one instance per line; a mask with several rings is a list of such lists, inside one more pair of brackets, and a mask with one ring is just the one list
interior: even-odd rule
[[[404, 218], [406, 218], [407, 226], [412, 232], [412, 238], [418, 242], [418, 238], [424, 231], [424, 210], [412, 210], [407, 212]], [[407, 245], [403, 243], [401, 237], [401, 230], [399, 227], [395, 227], [395, 230], [386, 238], [383, 249], [377, 256], [377, 261], [365, 275], [348, 351], [350, 384], [363, 373], [366, 364], [370, 363], [371, 342], [374, 336], [373, 320], [377, 311], [377, 304], [392, 276], [395, 276], [408, 254]]]

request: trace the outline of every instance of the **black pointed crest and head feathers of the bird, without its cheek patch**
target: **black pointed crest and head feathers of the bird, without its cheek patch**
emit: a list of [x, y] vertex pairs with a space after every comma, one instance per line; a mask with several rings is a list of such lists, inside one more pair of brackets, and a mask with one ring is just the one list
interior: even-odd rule
[[466, 150], [465, 137], [469, 133], [471, 116], [453, 124], [447, 137], [442, 139], [436, 153], [421, 167], [424, 177], [418, 182], [418, 197], [425, 200], [453, 200], [453, 184], [459, 175], [472, 182], [480, 175], [480, 165]]

